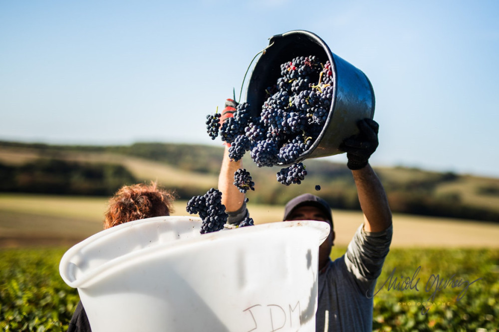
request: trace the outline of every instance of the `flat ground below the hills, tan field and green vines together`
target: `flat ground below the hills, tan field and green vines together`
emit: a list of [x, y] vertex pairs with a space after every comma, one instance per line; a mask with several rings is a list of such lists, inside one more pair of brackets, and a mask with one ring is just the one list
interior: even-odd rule
[[[0, 194], [0, 328], [3, 331], [65, 331], [78, 302], [58, 273], [63, 253], [102, 229], [106, 198]], [[187, 215], [185, 201], [175, 215]], [[282, 206], [249, 204], [256, 223], [274, 222]], [[333, 211], [336, 246], [345, 252], [362, 222], [357, 211]], [[394, 215], [393, 244], [374, 298], [375, 331], [497, 331], [499, 326], [499, 225], [444, 218]], [[419, 290], [382, 287], [412, 276]], [[447, 287], [428, 301], [425, 285], [441, 278], [480, 279], [467, 289]], [[377, 287], [378, 288], [378, 287]], [[423, 305], [426, 304], [426, 305]], [[421, 310], [429, 309], [426, 315]], [[483, 329], [483, 330], [477, 330]]]

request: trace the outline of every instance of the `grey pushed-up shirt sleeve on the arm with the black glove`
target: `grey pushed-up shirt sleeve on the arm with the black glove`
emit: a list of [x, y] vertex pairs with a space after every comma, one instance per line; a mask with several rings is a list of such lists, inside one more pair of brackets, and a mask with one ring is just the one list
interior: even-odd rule
[[372, 296], [392, 242], [393, 226], [381, 232], [366, 232], [364, 225], [355, 232], [345, 254], [347, 270], [360, 291]]

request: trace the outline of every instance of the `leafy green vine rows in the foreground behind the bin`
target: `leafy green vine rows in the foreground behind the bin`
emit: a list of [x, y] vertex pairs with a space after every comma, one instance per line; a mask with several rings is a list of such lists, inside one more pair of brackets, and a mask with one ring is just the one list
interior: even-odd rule
[[[0, 328], [2, 331], [66, 331], [77, 291], [59, 276], [67, 247], [0, 249]], [[338, 257], [345, 247], [333, 250]], [[383, 286], [396, 277], [412, 276], [421, 266], [418, 289]], [[431, 276], [475, 281], [425, 289]], [[499, 252], [494, 249], [403, 249], [388, 254], [374, 297], [374, 331], [497, 331], [499, 326]], [[432, 284], [430, 283], [430, 286]], [[428, 312], [426, 312], [428, 310]], [[422, 311], [426, 314], [422, 314]], [[480, 330], [481, 329], [481, 330]]]

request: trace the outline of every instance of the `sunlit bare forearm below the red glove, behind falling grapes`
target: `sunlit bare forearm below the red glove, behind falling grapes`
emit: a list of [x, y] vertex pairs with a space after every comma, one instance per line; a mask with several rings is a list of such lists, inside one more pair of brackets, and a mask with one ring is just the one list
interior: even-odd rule
[[237, 211], [244, 203], [245, 194], [234, 185], [234, 172], [243, 167], [243, 162], [231, 161], [229, 148], [225, 148], [222, 167], [220, 168], [218, 189], [222, 191], [222, 204], [230, 212]]

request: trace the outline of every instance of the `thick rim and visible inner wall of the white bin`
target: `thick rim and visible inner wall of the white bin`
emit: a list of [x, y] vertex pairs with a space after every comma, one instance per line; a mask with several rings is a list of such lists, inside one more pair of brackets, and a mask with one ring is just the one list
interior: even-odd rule
[[[144, 254], [154, 254], [165, 250], [166, 248], [179, 249], [183, 246], [189, 246], [200, 241], [214, 241], [227, 236], [243, 236], [250, 232], [262, 232], [265, 230], [279, 230], [291, 227], [306, 227], [316, 229], [318, 232], [318, 244], [320, 245], [329, 235], [330, 226], [327, 222], [316, 220], [294, 220], [270, 222], [265, 224], [257, 224], [254, 226], [238, 227], [236, 229], [224, 229], [218, 232], [200, 234], [201, 219], [190, 216], [162, 216], [147, 219], [130, 221], [121, 225], [117, 225], [105, 230], [102, 230], [87, 239], [75, 244], [63, 255], [59, 264], [59, 273], [64, 282], [72, 288], [86, 287], [91, 283], [92, 279], [101, 275], [103, 271], [113, 269], [118, 265], [133, 264], [135, 260], [141, 259]], [[172, 230], [178, 231], [178, 227], [182, 225], [184, 233], [181, 235], [178, 231], [178, 239], [168, 241], [155, 241], [144, 244], [140, 242], [141, 238], [132, 237], [131, 232], [140, 233], [141, 230], [151, 228], [154, 225], [172, 225]], [[159, 227], [159, 226], [158, 226]], [[120, 251], [117, 248], [111, 257], [106, 257], [98, 262], [94, 262], [91, 268], [85, 269], [85, 262], [82, 262], [82, 257], [88, 256], [88, 249], [101, 252], [112, 248], [114, 244], [119, 244], [122, 238], [135, 241], [128, 243], [133, 250], [127, 252], [126, 249]], [[143, 239], [142, 239], [143, 240]], [[138, 248], [138, 249], [137, 249]], [[113, 255], [114, 254], [114, 255]], [[81, 263], [81, 264], [80, 264]], [[76, 276], [78, 272], [78, 276]]]

